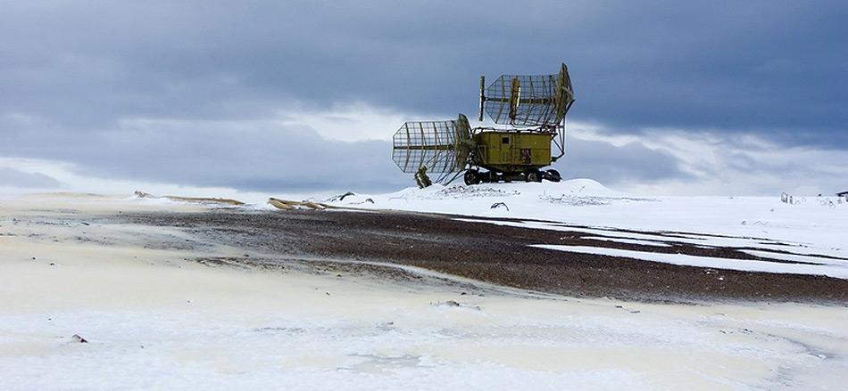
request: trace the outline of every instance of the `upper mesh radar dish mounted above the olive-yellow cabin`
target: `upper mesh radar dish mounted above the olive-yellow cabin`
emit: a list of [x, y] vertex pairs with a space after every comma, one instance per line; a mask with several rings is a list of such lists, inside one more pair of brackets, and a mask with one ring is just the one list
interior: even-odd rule
[[553, 126], [565, 118], [574, 103], [569, 70], [562, 64], [555, 75], [501, 75], [483, 91], [480, 81], [480, 114], [495, 124], [513, 126]]

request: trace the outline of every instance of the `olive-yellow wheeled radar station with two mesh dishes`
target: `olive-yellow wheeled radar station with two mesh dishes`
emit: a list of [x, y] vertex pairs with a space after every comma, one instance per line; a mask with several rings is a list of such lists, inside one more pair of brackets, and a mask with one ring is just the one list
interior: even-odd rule
[[469, 185], [559, 182], [557, 170], [541, 168], [565, 155], [565, 116], [573, 103], [565, 64], [553, 75], [503, 75], [488, 88], [480, 77], [478, 120], [485, 111], [502, 128], [472, 128], [462, 114], [453, 121], [407, 122], [395, 132], [392, 158], [421, 187], [430, 184], [427, 172], [438, 174], [440, 183], [462, 172]]

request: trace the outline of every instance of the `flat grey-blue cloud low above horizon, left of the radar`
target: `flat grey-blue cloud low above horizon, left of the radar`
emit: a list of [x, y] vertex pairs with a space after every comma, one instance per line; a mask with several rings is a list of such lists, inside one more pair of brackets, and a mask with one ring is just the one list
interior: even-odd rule
[[389, 190], [409, 184], [387, 141], [329, 140], [291, 118], [126, 118], [81, 134], [48, 121], [6, 118], [19, 130], [7, 134], [0, 155], [69, 162], [76, 172], [101, 178], [245, 190]]

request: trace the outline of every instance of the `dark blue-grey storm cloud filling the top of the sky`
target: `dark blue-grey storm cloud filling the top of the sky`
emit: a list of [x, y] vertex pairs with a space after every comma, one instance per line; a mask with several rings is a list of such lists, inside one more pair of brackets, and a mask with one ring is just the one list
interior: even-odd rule
[[0, 109], [84, 124], [290, 98], [471, 112], [480, 73], [566, 61], [576, 119], [845, 141], [844, 20], [839, 2], [6, 2]]

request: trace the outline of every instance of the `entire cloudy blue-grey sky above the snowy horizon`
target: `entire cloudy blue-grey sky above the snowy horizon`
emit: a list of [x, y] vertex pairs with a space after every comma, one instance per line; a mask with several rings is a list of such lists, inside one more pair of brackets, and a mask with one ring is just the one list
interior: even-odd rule
[[[0, 0], [0, 188], [393, 191], [406, 120], [569, 66], [553, 167], [643, 194], [848, 190], [848, 3]], [[476, 125], [476, 124], [472, 124]]]

